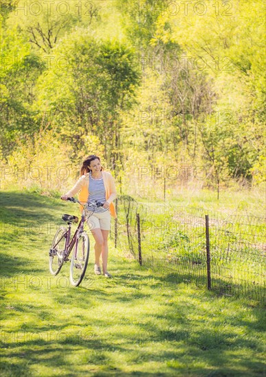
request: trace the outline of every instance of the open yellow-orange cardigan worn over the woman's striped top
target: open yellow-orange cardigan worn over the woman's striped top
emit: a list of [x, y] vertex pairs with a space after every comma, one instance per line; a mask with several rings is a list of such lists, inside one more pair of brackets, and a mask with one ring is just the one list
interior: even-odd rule
[[[106, 202], [110, 204], [110, 214], [114, 219], [117, 218], [117, 212], [115, 211], [114, 204], [112, 201], [117, 197], [117, 191], [115, 189], [114, 185], [114, 178], [111, 173], [108, 173], [108, 171], [101, 171], [103, 175], [104, 180], [104, 188], [106, 189]], [[68, 191], [66, 195], [68, 197], [73, 197], [76, 193], [79, 193], [78, 199], [80, 202], [86, 203], [88, 200], [88, 184], [89, 184], [89, 173], [86, 173], [82, 175], [75, 186], [73, 186], [73, 189]], [[80, 206], [80, 209], [82, 210], [82, 206]]]

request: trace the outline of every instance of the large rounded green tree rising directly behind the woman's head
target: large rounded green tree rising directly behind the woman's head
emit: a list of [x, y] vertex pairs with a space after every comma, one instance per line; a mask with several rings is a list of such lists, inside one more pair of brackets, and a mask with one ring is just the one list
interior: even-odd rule
[[[119, 152], [121, 112], [134, 102], [139, 75], [134, 52], [117, 41], [99, 40], [78, 29], [54, 49], [55, 62], [40, 77], [36, 106], [54, 114], [64, 139], [78, 149], [82, 134], [99, 136], [105, 158], [115, 168]], [[58, 110], [60, 109], [60, 110]]]

